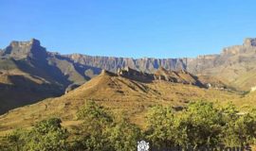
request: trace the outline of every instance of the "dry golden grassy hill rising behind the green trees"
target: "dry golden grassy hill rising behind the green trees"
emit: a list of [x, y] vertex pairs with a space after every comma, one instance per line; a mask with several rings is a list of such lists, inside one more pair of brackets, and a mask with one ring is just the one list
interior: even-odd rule
[[253, 102], [255, 98], [254, 94], [244, 97], [236, 92], [202, 89], [166, 81], [141, 83], [103, 73], [61, 97], [48, 98], [0, 116], [0, 135], [14, 128], [33, 126], [48, 117], [62, 118], [66, 127], [76, 126], [80, 123], [76, 113], [86, 100], [94, 100], [116, 114], [127, 115], [133, 123], [143, 128], [147, 109], [157, 104], [179, 107], [190, 101], [208, 100], [223, 104], [234, 101], [239, 105], [238, 100], [242, 100], [243, 105], [246, 105], [247, 99]]

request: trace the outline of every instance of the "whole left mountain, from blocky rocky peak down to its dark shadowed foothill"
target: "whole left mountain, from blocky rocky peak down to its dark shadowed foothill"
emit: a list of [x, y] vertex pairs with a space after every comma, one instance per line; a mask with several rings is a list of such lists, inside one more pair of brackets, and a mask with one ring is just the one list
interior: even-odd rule
[[46, 51], [38, 40], [10, 42], [0, 52], [0, 113], [59, 96], [101, 69], [78, 64]]

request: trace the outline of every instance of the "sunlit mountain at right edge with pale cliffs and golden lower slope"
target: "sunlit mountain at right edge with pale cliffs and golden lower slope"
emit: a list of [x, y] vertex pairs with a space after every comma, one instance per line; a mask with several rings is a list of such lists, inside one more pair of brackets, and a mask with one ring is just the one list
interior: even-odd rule
[[246, 39], [243, 45], [224, 48], [220, 55], [191, 59], [187, 70], [196, 75], [220, 78], [236, 89], [248, 91], [256, 86], [255, 43], [256, 39]]

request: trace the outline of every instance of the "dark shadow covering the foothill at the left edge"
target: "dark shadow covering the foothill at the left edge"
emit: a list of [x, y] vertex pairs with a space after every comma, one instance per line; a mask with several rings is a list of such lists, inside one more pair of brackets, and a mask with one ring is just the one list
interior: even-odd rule
[[9, 80], [12, 84], [0, 83], [0, 114], [62, 94], [56, 86], [39, 84], [25, 76], [9, 76]]

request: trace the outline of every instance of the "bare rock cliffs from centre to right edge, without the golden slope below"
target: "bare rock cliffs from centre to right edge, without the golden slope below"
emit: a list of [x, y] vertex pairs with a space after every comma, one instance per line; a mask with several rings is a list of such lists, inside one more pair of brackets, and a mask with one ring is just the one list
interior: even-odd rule
[[207, 74], [210, 70], [219, 66], [254, 61], [256, 55], [256, 39], [246, 39], [243, 45], [224, 48], [219, 55], [198, 56], [195, 59], [132, 59], [113, 57], [91, 57], [81, 54], [65, 56], [74, 62], [89, 66], [99, 67], [111, 72], [117, 72], [118, 68], [129, 66], [130, 68], [154, 73], [160, 66], [167, 70], [187, 70], [193, 74]]

